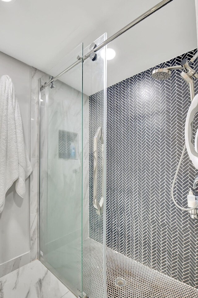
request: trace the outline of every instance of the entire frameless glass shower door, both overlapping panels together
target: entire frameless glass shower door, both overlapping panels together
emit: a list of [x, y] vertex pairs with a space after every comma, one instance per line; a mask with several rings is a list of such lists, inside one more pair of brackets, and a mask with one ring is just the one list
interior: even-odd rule
[[40, 260], [81, 298], [106, 298], [106, 49], [80, 59], [105, 39], [41, 77], [44, 85], [80, 61], [40, 91], [39, 218]]

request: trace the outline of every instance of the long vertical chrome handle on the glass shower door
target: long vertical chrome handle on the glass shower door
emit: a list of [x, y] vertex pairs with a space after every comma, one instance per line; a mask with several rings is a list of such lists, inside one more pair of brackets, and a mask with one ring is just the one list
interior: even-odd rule
[[[98, 143], [101, 141], [101, 155], [102, 155], [102, 191], [101, 199], [98, 202], [97, 191], [98, 191]], [[93, 207], [95, 208], [98, 215], [103, 212], [103, 201], [104, 201], [104, 172], [103, 172], [103, 161], [104, 161], [104, 138], [102, 133], [102, 128], [98, 127], [97, 132], [93, 138]]]

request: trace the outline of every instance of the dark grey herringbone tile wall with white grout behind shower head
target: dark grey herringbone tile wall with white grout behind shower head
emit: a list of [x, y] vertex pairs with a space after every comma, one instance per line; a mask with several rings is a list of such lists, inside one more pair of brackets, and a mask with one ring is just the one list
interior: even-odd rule
[[[156, 67], [179, 65], [195, 52]], [[198, 71], [197, 61], [194, 68]], [[189, 90], [180, 71], [157, 81], [153, 69], [107, 89], [107, 246], [198, 288], [198, 221], [177, 209], [170, 196], [184, 144]], [[89, 233], [102, 242], [102, 218], [93, 210], [93, 136], [103, 122], [103, 92], [90, 96], [89, 108]], [[185, 154], [174, 192], [184, 207], [197, 174]]]

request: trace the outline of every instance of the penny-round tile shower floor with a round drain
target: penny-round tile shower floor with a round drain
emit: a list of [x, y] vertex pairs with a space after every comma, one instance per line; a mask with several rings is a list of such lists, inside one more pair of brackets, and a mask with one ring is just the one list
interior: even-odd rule
[[[92, 239], [84, 241], [84, 291], [89, 298], [103, 298], [102, 250], [100, 243]], [[106, 259], [108, 298], [198, 298], [195, 288], [110, 248]]]

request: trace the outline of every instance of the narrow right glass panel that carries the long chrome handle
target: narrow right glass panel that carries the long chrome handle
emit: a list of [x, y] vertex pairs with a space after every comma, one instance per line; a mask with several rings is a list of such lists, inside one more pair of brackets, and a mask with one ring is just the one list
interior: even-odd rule
[[[106, 34], [99, 37], [94, 43], [98, 46], [106, 40]], [[86, 59], [83, 64], [83, 93], [87, 101], [85, 110], [89, 110], [88, 123], [84, 121], [84, 158], [83, 158], [83, 291], [89, 298], [106, 297], [105, 275], [105, 110], [106, 110], [106, 60], [105, 50], [97, 51], [97, 59]], [[90, 47], [84, 50], [84, 55]], [[96, 57], [95, 57], [96, 58]], [[85, 100], [84, 100], [85, 101]], [[85, 117], [84, 117], [85, 119]], [[101, 128], [104, 137], [104, 161], [102, 169], [102, 142], [98, 141], [97, 160], [97, 201], [100, 202], [102, 194], [102, 179], [104, 180], [104, 206], [103, 213], [98, 215], [93, 206], [94, 195], [94, 155], [93, 140], [97, 130]], [[105, 276], [105, 279], [104, 279]], [[105, 286], [104, 286], [105, 285]]]

